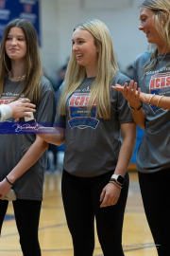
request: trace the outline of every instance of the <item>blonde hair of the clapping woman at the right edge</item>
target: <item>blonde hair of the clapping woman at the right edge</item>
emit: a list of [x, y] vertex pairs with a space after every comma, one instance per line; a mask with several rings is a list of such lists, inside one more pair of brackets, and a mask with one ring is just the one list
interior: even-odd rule
[[[169, 0], [146, 0], [141, 7], [151, 9], [154, 12], [155, 27], [159, 32], [161, 39], [163, 40], [165, 46], [164, 49], [170, 47], [170, 1]], [[166, 21], [164, 20], [165, 14], [164, 10], [168, 12], [168, 17]], [[155, 45], [151, 50], [151, 55], [149, 61], [144, 64], [143, 71], [145, 72], [153, 68], [157, 64], [158, 56], [158, 46]]]

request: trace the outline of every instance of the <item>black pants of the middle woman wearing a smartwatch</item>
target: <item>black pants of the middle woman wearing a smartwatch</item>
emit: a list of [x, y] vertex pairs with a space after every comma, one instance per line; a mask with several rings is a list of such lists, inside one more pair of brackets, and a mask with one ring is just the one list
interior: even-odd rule
[[94, 216], [100, 245], [105, 256], [123, 256], [122, 228], [127, 203], [128, 174], [116, 205], [100, 208], [100, 194], [113, 172], [97, 177], [77, 177], [63, 171], [62, 199], [72, 234], [75, 256], [92, 256]]

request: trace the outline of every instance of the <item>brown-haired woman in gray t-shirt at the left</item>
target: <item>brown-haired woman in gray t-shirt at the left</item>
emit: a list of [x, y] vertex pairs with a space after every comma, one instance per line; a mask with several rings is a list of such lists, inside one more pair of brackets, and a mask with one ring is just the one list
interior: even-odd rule
[[[7, 104], [22, 98], [36, 104], [37, 121], [53, 122], [55, 95], [50, 82], [42, 77], [36, 29], [24, 19], [15, 19], [5, 27], [1, 40], [0, 101]], [[13, 118], [8, 119], [8, 125], [15, 125]], [[47, 147], [48, 143], [34, 134], [0, 134], [0, 230], [8, 209], [8, 200], [4, 199], [12, 188], [17, 197], [12, 204], [25, 256], [41, 256], [38, 227]]]

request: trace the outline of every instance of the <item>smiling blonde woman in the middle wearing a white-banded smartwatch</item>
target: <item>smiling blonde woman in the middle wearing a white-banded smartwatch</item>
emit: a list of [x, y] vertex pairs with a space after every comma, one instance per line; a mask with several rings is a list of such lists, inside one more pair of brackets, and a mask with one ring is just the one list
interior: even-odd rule
[[127, 166], [136, 125], [127, 101], [111, 84], [129, 79], [118, 71], [110, 31], [101, 21], [77, 25], [72, 47], [59, 89], [58, 135], [40, 137], [57, 145], [65, 141], [62, 198], [74, 255], [93, 255], [95, 217], [104, 255], [123, 256]]

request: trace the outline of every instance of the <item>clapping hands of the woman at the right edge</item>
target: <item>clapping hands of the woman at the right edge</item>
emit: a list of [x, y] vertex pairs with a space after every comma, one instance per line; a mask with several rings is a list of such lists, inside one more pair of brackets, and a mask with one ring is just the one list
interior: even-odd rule
[[127, 82], [124, 84], [124, 86], [120, 84], [116, 84], [115, 86], [112, 86], [112, 89], [121, 92], [124, 98], [129, 102], [130, 107], [132, 108], [140, 107], [141, 88], [138, 88], [137, 90], [137, 82], [134, 82], [133, 80], [131, 80], [129, 83], [129, 86], [127, 86]]

